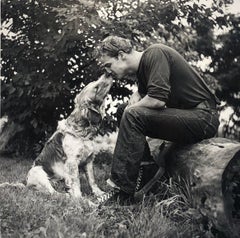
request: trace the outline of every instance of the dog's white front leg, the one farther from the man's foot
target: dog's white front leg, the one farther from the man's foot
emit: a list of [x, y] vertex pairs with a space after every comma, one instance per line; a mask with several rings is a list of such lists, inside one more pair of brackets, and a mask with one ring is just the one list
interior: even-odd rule
[[66, 162], [65, 183], [69, 188], [69, 193], [74, 198], [81, 198], [81, 188], [78, 173], [78, 163], [76, 160], [69, 159]]

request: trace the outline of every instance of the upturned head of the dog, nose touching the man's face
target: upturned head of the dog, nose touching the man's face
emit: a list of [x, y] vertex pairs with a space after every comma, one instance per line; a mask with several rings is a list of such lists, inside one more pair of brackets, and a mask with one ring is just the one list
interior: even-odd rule
[[70, 115], [75, 123], [85, 120], [96, 125], [101, 121], [104, 115], [104, 99], [112, 83], [112, 77], [104, 74], [83, 88], [74, 100], [75, 109]]

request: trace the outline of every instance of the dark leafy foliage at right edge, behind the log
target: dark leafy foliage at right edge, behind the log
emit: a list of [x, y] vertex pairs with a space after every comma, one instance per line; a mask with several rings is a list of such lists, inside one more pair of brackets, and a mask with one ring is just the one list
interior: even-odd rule
[[240, 17], [229, 15], [229, 31], [218, 37], [220, 45], [212, 62], [214, 76], [221, 84], [218, 96], [233, 108], [225, 135], [240, 139]]

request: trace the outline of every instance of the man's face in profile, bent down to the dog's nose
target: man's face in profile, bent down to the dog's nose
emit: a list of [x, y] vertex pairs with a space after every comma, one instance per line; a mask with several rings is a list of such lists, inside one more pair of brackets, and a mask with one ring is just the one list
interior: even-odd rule
[[127, 74], [130, 74], [129, 64], [127, 57], [128, 54], [119, 54], [118, 57], [111, 57], [108, 55], [103, 55], [100, 59], [101, 66], [105, 68], [108, 73], [113, 74], [118, 79], [123, 78]]

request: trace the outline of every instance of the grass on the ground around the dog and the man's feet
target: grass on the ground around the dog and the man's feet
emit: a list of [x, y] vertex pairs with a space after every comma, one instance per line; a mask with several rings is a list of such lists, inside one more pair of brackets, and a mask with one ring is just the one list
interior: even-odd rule
[[[0, 183], [21, 182], [31, 164], [24, 159], [0, 158]], [[104, 155], [95, 164], [97, 181], [103, 189], [109, 164]], [[86, 181], [81, 179], [84, 195], [91, 197]], [[211, 237], [201, 235], [187, 186], [185, 192], [171, 182], [161, 187], [163, 192], [159, 190], [141, 204], [102, 208], [26, 187], [0, 188], [0, 237]]]

